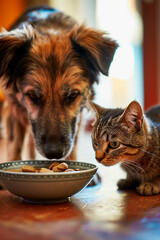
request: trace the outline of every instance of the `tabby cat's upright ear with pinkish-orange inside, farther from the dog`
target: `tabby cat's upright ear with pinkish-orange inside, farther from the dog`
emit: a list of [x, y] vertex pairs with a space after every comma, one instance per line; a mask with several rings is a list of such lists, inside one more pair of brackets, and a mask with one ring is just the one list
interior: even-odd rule
[[119, 118], [126, 127], [139, 131], [143, 123], [143, 110], [137, 101], [131, 102]]

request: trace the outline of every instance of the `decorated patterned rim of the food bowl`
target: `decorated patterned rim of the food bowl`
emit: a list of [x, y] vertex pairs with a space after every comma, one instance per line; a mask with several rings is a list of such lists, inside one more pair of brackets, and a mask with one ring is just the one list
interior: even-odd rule
[[[80, 171], [75, 171], [75, 172], [52, 172], [52, 173], [28, 173], [28, 172], [10, 172], [10, 171], [6, 171], [7, 167], [11, 167], [11, 166], [14, 166], [14, 165], [22, 165], [24, 166], [25, 163], [31, 166], [34, 166], [34, 165], [40, 165], [40, 164], [43, 164], [43, 163], [49, 163], [49, 164], [52, 164], [54, 161], [56, 162], [66, 162], [66, 163], [70, 163], [70, 164], [73, 164], [73, 163], [77, 163], [78, 165], [81, 165], [81, 166], [88, 166], [88, 167], [91, 167], [90, 169], [84, 169], [84, 170], [80, 170]], [[34, 164], [35, 163], [35, 164]], [[74, 164], [73, 164], [74, 165]], [[3, 168], [1, 168], [3, 166]], [[35, 166], [36, 167], [36, 166]], [[38, 167], [38, 166], [37, 166]], [[78, 167], [78, 166], [77, 166]], [[3, 170], [5, 169], [5, 170]], [[92, 172], [95, 172], [98, 170], [98, 166], [96, 166], [95, 164], [92, 164], [92, 163], [88, 163], [88, 162], [80, 162], [80, 161], [77, 161], [77, 160], [57, 160], [57, 159], [52, 159], [52, 160], [17, 160], [17, 161], [11, 161], [11, 162], [3, 162], [3, 163], [0, 163], [0, 176], [1, 174], [4, 174], [7, 176], [35, 176], [35, 177], [39, 177], [39, 176], [68, 176], [68, 175], [72, 175], [72, 176], [76, 176], [76, 175], [83, 175], [83, 174], [87, 174], [87, 173], [92, 173]]]

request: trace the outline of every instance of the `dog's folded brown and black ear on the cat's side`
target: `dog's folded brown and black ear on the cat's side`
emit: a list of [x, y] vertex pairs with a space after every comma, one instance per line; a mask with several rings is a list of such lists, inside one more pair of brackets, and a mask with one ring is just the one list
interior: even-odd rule
[[118, 44], [106, 37], [104, 32], [86, 28], [85, 25], [75, 29], [71, 41], [80, 46], [97, 72], [108, 75]]

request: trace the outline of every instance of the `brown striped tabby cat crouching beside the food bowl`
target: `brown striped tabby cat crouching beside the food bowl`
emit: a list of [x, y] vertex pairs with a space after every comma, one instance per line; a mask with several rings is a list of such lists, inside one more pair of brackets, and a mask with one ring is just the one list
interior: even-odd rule
[[96, 113], [92, 129], [95, 157], [105, 166], [121, 163], [127, 173], [119, 189], [137, 188], [140, 195], [160, 193], [160, 106], [143, 113], [132, 101], [126, 109], [106, 109], [89, 100]]

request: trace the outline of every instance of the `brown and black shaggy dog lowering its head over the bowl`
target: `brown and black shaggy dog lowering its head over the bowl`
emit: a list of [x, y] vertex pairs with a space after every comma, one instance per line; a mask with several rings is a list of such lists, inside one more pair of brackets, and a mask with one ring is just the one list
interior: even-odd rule
[[8, 160], [21, 158], [29, 126], [44, 157], [76, 158], [82, 109], [93, 97], [99, 72], [108, 74], [116, 48], [103, 32], [48, 7], [26, 11], [10, 31], [0, 33]]

